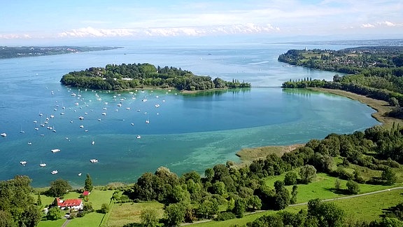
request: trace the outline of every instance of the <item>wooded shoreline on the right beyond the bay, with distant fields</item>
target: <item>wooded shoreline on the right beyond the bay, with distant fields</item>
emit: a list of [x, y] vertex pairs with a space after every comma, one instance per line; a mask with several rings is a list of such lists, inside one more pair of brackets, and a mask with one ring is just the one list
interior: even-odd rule
[[390, 116], [403, 118], [403, 47], [360, 47], [344, 50], [288, 50], [279, 61], [313, 69], [346, 73], [333, 81], [302, 78], [283, 88], [330, 88], [389, 102]]

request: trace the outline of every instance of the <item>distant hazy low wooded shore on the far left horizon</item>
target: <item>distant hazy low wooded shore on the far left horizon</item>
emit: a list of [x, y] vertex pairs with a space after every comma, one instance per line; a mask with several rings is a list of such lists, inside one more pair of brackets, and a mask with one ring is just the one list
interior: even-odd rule
[[35, 57], [44, 55], [61, 55], [86, 51], [113, 50], [116, 47], [89, 47], [89, 46], [0, 46], [0, 59], [13, 57]]

